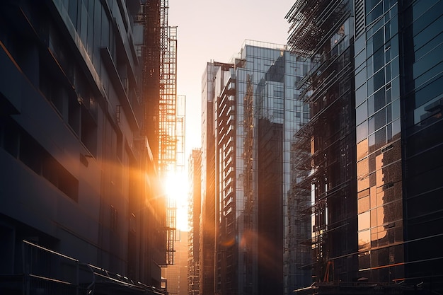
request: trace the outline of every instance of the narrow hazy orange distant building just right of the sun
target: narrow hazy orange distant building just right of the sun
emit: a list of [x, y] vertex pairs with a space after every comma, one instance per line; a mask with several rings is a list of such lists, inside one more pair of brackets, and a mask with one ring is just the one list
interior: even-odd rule
[[200, 212], [202, 210], [202, 151], [189, 156], [190, 195], [188, 203], [188, 295], [200, 294]]

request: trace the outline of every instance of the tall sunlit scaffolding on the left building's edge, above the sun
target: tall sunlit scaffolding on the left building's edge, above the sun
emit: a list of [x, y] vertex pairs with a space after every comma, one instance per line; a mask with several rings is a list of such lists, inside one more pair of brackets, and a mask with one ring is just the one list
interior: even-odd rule
[[[184, 168], [184, 97], [177, 97], [177, 27], [168, 25], [168, 0], [146, 1], [137, 21], [144, 24], [142, 47], [144, 122], [160, 180]], [[178, 114], [177, 108], [183, 107]], [[180, 158], [180, 159], [179, 159]], [[179, 163], [178, 163], [179, 161]], [[178, 171], [180, 170], [180, 171]], [[176, 202], [166, 200], [166, 264], [174, 263]]]

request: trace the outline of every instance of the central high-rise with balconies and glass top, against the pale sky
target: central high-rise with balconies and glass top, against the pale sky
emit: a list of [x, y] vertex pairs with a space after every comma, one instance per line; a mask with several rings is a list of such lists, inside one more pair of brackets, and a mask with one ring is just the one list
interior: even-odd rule
[[213, 137], [203, 149], [214, 152], [207, 162], [214, 165], [217, 294], [283, 292], [291, 142], [309, 116], [296, 86], [307, 71], [284, 45], [250, 40], [230, 63], [207, 64], [212, 129], [204, 130]]

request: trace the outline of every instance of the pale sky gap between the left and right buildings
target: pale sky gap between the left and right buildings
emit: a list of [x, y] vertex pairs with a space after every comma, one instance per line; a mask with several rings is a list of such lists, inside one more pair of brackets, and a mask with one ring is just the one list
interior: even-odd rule
[[[201, 147], [202, 74], [207, 62], [230, 62], [245, 40], [286, 44], [289, 23], [284, 16], [294, 1], [168, 1], [168, 25], [177, 26], [177, 94], [186, 96], [185, 163], [192, 149]], [[184, 175], [187, 178], [188, 172]], [[187, 198], [177, 199], [177, 226], [183, 231], [188, 230]]]

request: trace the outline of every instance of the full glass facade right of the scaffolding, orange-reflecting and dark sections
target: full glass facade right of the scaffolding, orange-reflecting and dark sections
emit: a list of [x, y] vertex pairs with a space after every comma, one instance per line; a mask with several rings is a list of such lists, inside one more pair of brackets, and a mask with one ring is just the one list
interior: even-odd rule
[[355, 27], [359, 274], [441, 292], [443, 1], [360, 6]]

